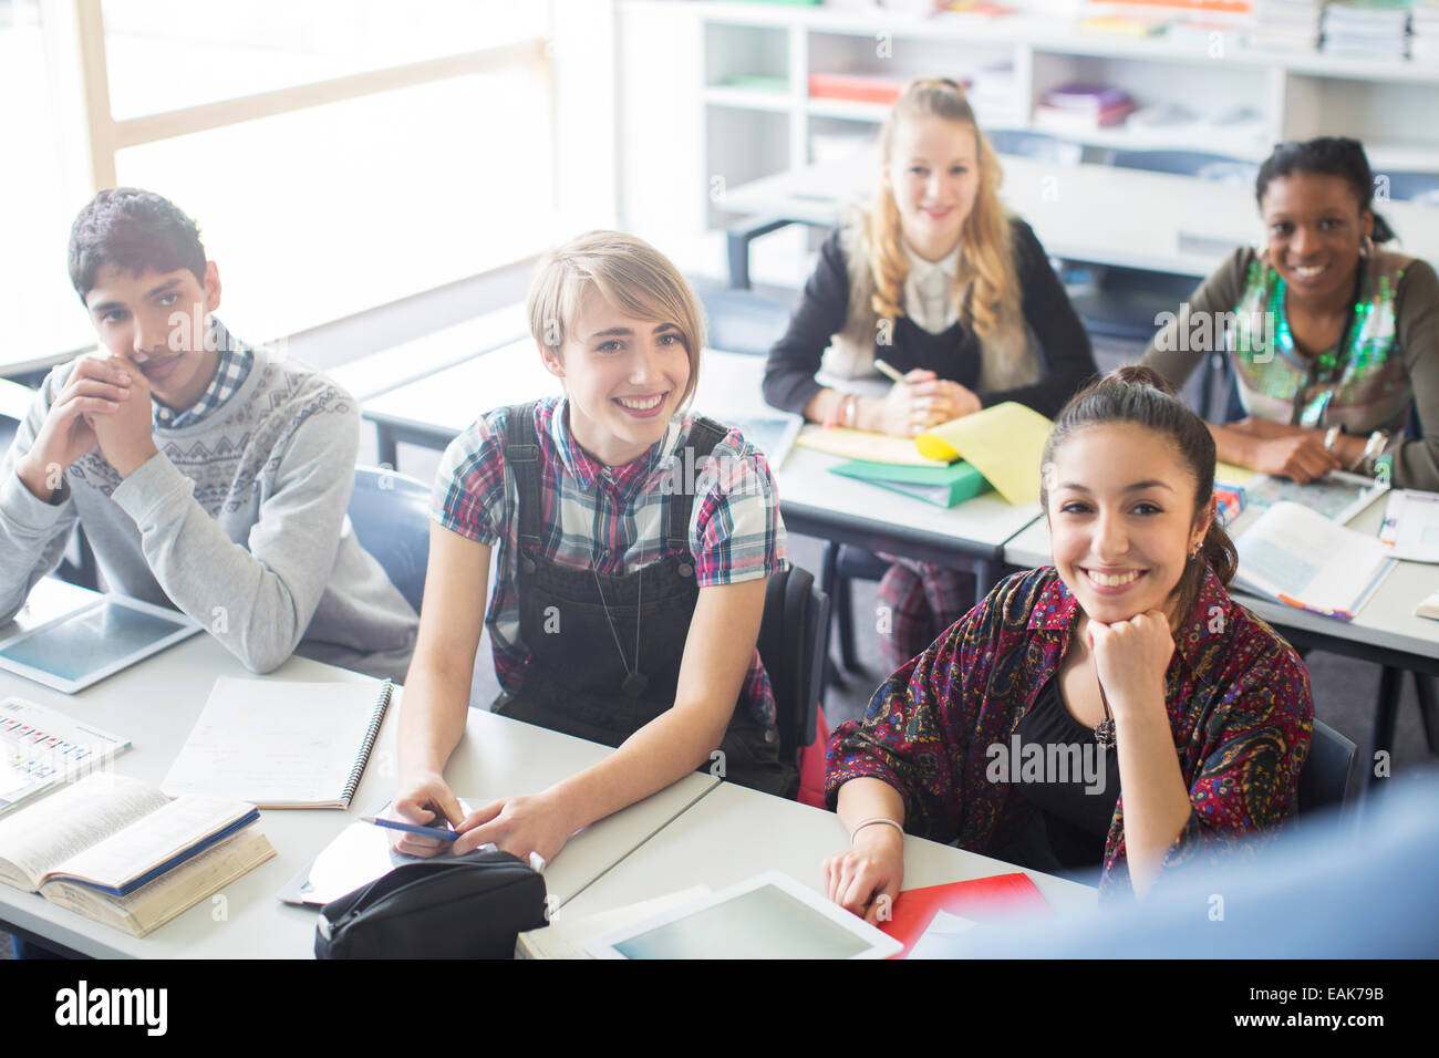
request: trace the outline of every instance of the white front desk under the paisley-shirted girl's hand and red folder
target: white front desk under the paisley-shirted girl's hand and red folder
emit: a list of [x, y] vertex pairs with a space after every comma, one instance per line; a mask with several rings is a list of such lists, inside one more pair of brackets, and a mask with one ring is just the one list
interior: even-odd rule
[[[580, 894], [561, 915], [607, 911], [698, 884], [721, 890], [761, 871], [783, 871], [823, 892], [823, 861], [848, 846], [849, 836], [833, 812], [721, 783]], [[904, 888], [912, 890], [1020, 868], [905, 835], [904, 869]], [[1036, 871], [1025, 874], [1056, 911], [1092, 908], [1098, 901], [1098, 890], [1088, 885]]]

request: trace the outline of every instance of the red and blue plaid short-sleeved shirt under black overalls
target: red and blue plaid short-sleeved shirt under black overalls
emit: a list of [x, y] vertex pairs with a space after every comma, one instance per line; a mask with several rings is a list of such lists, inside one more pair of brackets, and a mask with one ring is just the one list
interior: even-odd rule
[[[648, 455], [606, 466], [570, 433], [563, 400], [535, 406], [543, 482], [544, 559], [573, 569], [626, 574], [665, 553], [665, 512], [675, 453], [689, 436], [689, 417], [675, 417]], [[518, 691], [530, 651], [519, 638], [518, 487], [505, 471], [505, 409], [488, 412], [445, 451], [435, 478], [430, 515], [445, 528], [489, 547], [498, 546], [494, 594], [485, 625], [495, 654], [495, 675]], [[689, 550], [699, 587], [737, 584], [784, 567], [784, 524], [774, 478], [764, 455], [740, 430], [715, 445], [717, 462], [695, 466]], [[774, 724], [774, 692], [758, 651], [740, 701], [751, 715]]]

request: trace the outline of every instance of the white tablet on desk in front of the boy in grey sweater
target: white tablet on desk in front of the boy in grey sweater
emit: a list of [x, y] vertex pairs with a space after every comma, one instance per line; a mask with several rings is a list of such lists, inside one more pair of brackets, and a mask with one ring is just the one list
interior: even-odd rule
[[0, 668], [75, 694], [199, 630], [176, 610], [105, 594], [0, 641]]

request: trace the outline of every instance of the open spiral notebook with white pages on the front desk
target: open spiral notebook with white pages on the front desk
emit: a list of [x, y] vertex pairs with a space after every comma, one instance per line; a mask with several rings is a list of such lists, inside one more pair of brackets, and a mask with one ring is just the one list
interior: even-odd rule
[[350, 808], [394, 692], [389, 679], [214, 681], [161, 789], [259, 808]]

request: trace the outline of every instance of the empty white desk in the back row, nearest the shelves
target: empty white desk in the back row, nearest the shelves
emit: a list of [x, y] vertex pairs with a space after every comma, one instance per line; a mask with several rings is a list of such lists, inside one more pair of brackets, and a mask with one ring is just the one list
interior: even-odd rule
[[[1249, 184], [1014, 155], [1003, 155], [1000, 166], [1004, 203], [1056, 258], [1207, 276], [1261, 233]], [[878, 173], [878, 151], [862, 151], [728, 189], [724, 207], [830, 226], [845, 203], [871, 193]], [[1406, 253], [1439, 261], [1439, 209], [1386, 202], [1380, 212], [1403, 236]]]

